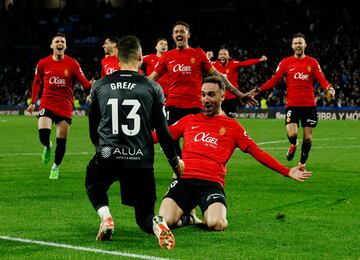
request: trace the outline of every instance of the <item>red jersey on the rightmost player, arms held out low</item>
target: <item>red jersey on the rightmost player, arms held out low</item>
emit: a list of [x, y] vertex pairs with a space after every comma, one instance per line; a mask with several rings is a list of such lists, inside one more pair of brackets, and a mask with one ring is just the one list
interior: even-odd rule
[[276, 69], [275, 75], [260, 87], [266, 90], [274, 87], [285, 77], [287, 93], [286, 106], [316, 106], [314, 81], [326, 89], [329, 82], [325, 79], [316, 59], [305, 56], [302, 59], [290, 56], [283, 59]]

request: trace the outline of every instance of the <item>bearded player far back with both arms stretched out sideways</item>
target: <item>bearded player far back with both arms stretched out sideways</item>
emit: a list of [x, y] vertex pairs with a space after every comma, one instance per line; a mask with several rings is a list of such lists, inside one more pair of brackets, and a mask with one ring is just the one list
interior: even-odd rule
[[[212, 57], [212, 52], [208, 52], [208, 58]], [[261, 56], [259, 59], [248, 59], [245, 61], [238, 61], [230, 58], [229, 50], [226, 48], [221, 48], [219, 50], [218, 59], [211, 62], [213, 66], [230, 81], [230, 83], [238, 88], [238, 78], [239, 78], [239, 68], [251, 66], [262, 61], [266, 61], [266, 56]], [[230, 91], [226, 91], [225, 100], [222, 103], [222, 110], [229, 117], [234, 117], [234, 114], [237, 112], [239, 107], [238, 98], [233, 95]]]

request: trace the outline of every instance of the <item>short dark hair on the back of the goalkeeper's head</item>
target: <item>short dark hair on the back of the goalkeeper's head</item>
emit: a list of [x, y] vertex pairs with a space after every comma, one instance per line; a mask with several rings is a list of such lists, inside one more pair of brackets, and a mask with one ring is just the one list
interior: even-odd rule
[[139, 50], [141, 49], [140, 40], [133, 35], [124, 36], [119, 40], [118, 49], [118, 58], [120, 61], [127, 62], [138, 59]]

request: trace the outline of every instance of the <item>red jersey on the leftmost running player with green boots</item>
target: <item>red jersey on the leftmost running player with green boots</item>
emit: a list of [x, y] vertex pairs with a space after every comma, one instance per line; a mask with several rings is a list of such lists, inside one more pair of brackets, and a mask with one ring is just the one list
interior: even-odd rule
[[36, 102], [40, 86], [43, 85], [39, 110], [46, 108], [59, 116], [71, 118], [73, 86], [76, 81], [85, 89], [91, 87], [75, 59], [64, 55], [64, 59], [55, 61], [50, 55], [37, 64], [31, 100]]

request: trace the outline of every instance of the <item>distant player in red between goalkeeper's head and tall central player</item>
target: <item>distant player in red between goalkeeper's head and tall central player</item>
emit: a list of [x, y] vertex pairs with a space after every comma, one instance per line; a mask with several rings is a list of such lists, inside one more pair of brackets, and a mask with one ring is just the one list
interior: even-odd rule
[[[143, 59], [143, 66], [145, 67], [145, 75], [149, 76], [158, 64], [161, 55], [168, 50], [168, 42], [165, 38], [159, 38], [156, 41], [156, 54], [145, 55]], [[158, 80], [157, 83], [162, 87], [165, 98], [169, 92], [168, 75], [165, 73]]]

